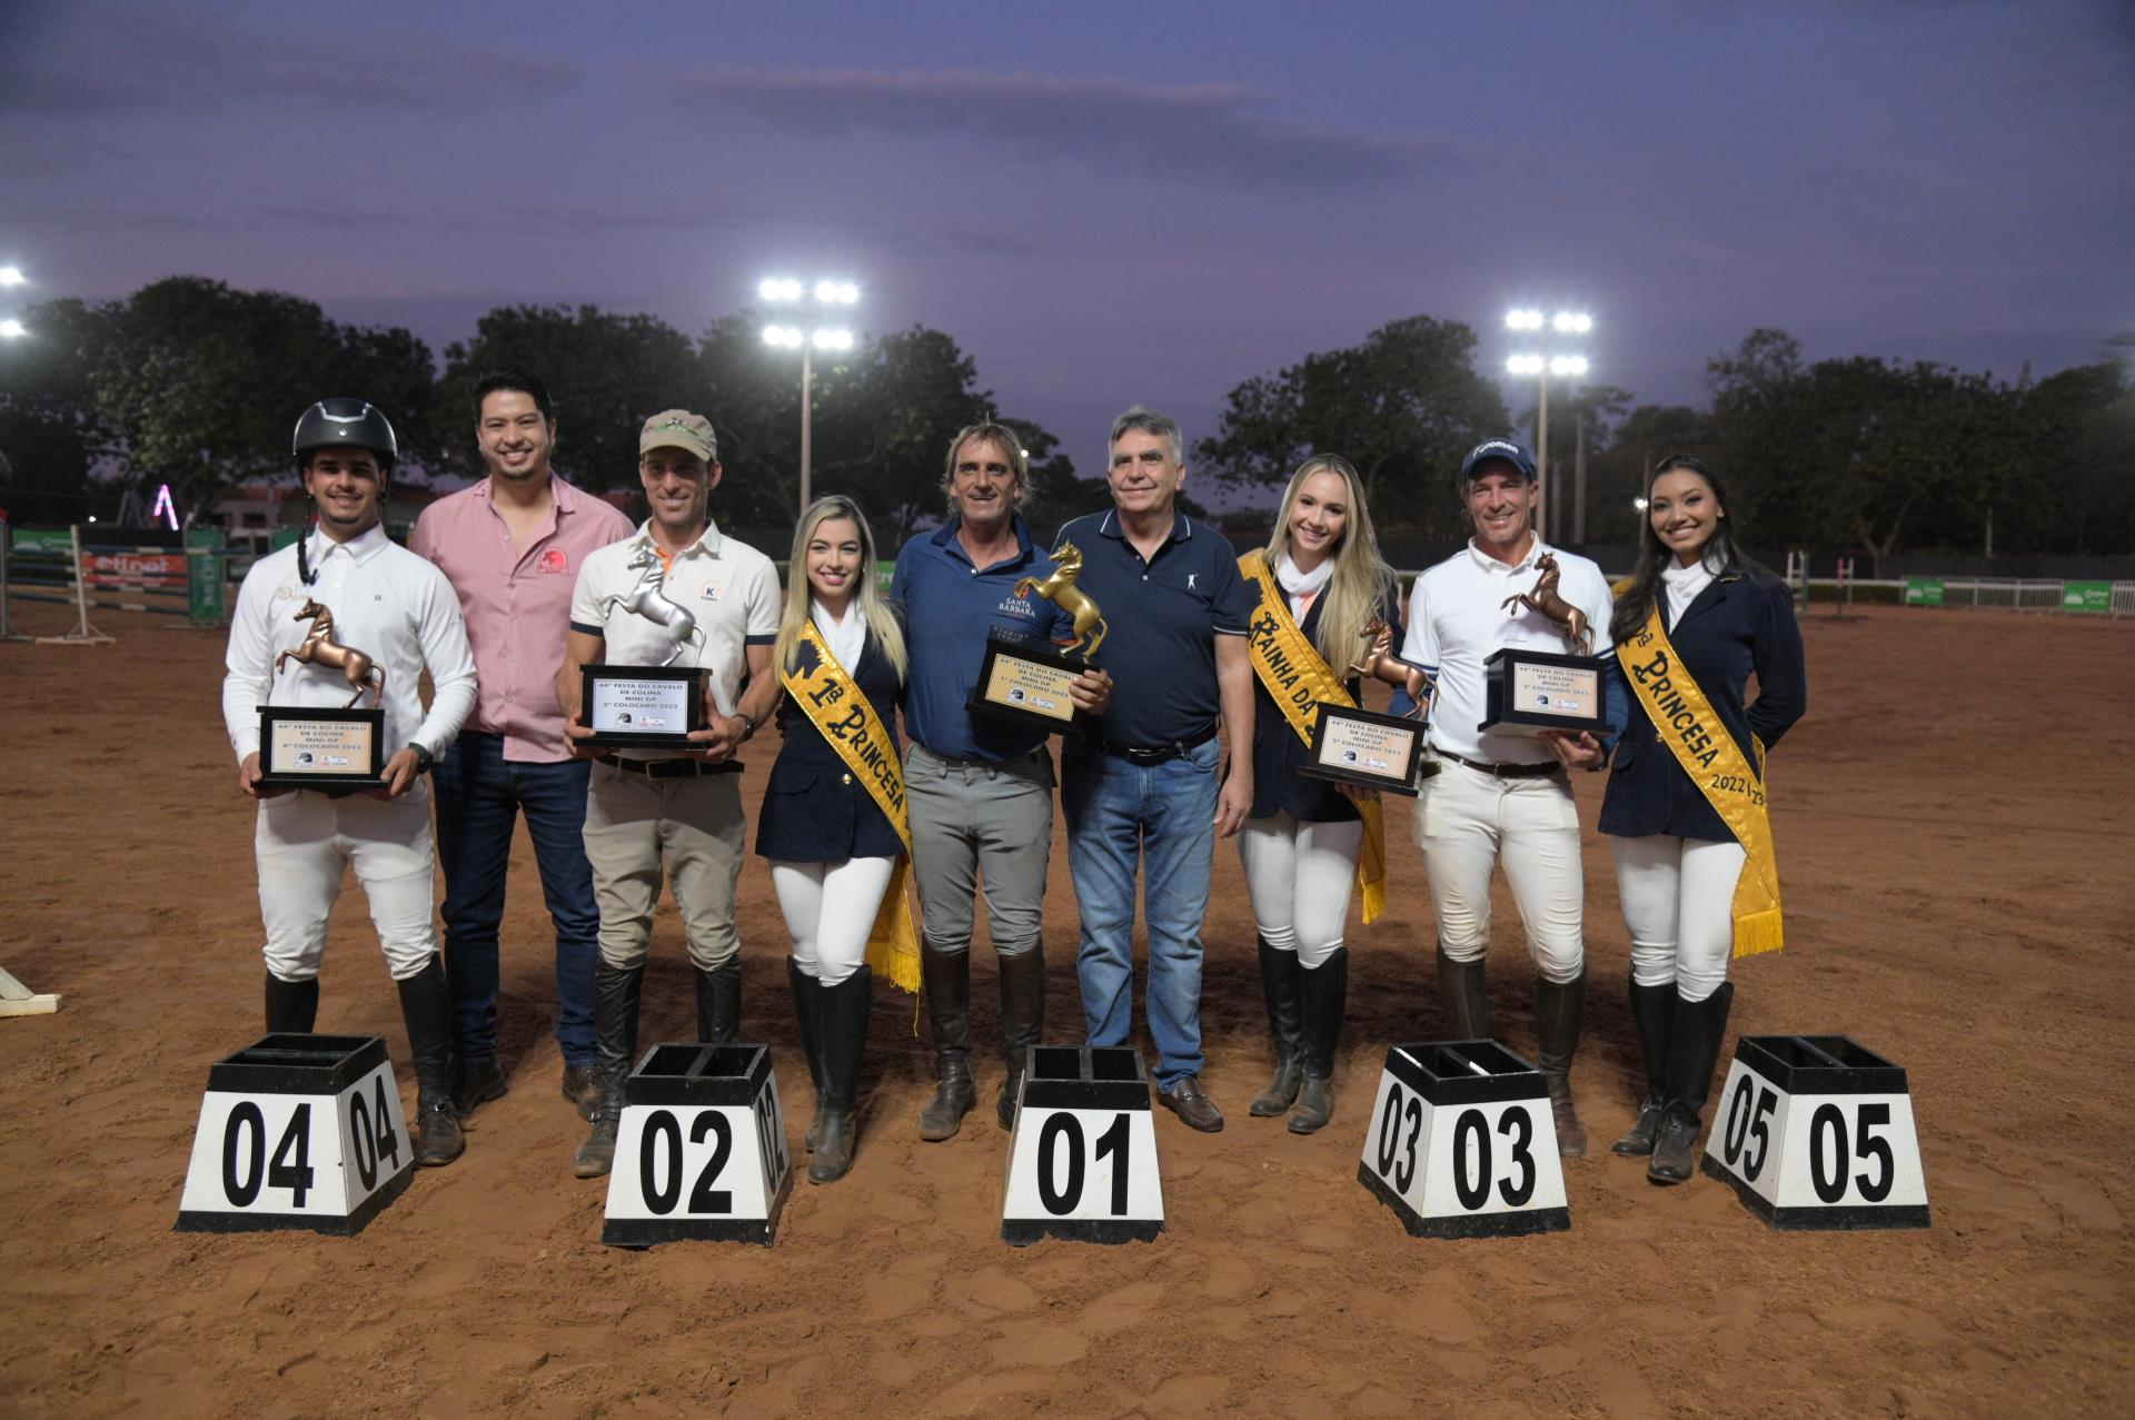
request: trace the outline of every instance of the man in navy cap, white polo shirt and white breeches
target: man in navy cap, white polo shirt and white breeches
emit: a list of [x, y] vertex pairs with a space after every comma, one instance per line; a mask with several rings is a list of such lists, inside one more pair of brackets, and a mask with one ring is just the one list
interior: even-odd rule
[[1486, 440], [1460, 463], [1460, 498], [1475, 536], [1416, 579], [1409, 636], [1401, 658], [1433, 679], [1430, 750], [1443, 771], [1424, 779], [1409, 816], [1430, 875], [1439, 918], [1439, 1001], [1456, 1038], [1490, 1036], [1486, 954], [1490, 950], [1490, 869], [1503, 858], [1520, 905], [1527, 950], [1535, 957], [1535, 1036], [1550, 1087], [1556, 1147], [1586, 1153], [1586, 1132], [1571, 1108], [1571, 1055], [1586, 1006], [1582, 931], [1580, 811], [1567, 767], [1601, 769], [1606, 747], [1591, 735], [1544, 743], [1527, 735], [1486, 735], [1484, 662], [1520, 647], [1563, 651], [1556, 621], [1505, 606], [1533, 589], [1535, 564], [1556, 557], [1559, 594], [1586, 613], [1608, 653], [1608, 579], [1586, 557], [1544, 547], [1531, 525], [1539, 491], [1535, 461], [1512, 440]]

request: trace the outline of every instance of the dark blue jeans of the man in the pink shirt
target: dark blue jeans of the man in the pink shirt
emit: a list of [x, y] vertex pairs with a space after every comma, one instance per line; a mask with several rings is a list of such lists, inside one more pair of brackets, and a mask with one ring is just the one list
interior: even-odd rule
[[500, 735], [461, 732], [433, 767], [438, 858], [444, 863], [444, 972], [453, 982], [453, 1055], [497, 1055], [497, 925], [512, 826], [527, 816], [540, 890], [555, 922], [555, 1042], [564, 1063], [594, 1063], [594, 961], [600, 908], [585, 863], [591, 764], [521, 764]]

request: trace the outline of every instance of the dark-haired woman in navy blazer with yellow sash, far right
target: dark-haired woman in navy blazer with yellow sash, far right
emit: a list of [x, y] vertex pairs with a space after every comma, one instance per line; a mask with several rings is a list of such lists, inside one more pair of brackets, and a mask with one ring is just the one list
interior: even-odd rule
[[[1638, 1123], [1612, 1149], [1646, 1177], [1691, 1177], [1699, 1110], [1727, 1038], [1729, 957], [1781, 946], [1764, 756], [1808, 707], [1793, 591], [1738, 549], [1727, 491], [1691, 457], [1646, 493], [1638, 572], [1616, 589], [1616, 745], [1601, 833], [1631, 931], [1631, 1016], [1646, 1055]], [[1749, 677], [1757, 700], [1742, 703]]]

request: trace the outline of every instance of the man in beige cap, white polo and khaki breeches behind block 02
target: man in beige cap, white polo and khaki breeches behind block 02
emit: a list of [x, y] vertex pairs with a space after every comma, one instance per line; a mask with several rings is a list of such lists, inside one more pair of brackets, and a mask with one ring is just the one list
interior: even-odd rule
[[[638, 433], [638, 478], [651, 517], [634, 538], [591, 551], [579, 568], [570, 641], [557, 675], [557, 698], [570, 713], [564, 735], [572, 754], [596, 760], [585, 799], [585, 856], [594, 865], [594, 897], [600, 901], [600, 963], [594, 967], [600, 1104], [594, 1132], [572, 1164], [581, 1179], [598, 1179], [615, 1162], [615, 1127], [623, 1113], [623, 1078], [636, 1057], [638, 995], [662, 875], [675, 886], [690, 963], [700, 978], [698, 995], [717, 1004], [713, 1016], [700, 1023], [709, 1025], [700, 1034], [713, 1044], [728, 1044], [741, 1029], [734, 880], [741, 875], [745, 833], [734, 752], [779, 696], [779, 679], [771, 673], [779, 572], [769, 557], [724, 536], [711, 521], [709, 495], [719, 487], [711, 421], [687, 410], [647, 419]], [[711, 673], [705, 728], [690, 735], [698, 747], [675, 756], [658, 750], [598, 754], [583, 743], [591, 730], [579, 717], [581, 666], [658, 666], [677, 649], [668, 626], [619, 604], [645, 583], [658, 583], [660, 596], [694, 621], [675, 664]], [[705, 978], [711, 978], [709, 993]]]

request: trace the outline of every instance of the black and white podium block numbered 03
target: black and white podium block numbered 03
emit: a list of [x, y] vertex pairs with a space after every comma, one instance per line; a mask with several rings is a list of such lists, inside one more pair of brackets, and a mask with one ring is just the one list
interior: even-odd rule
[[1356, 1177], [1409, 1236], [1571, 1226], [1550, 1091], [1494, 1040], [1390, 1046]]

